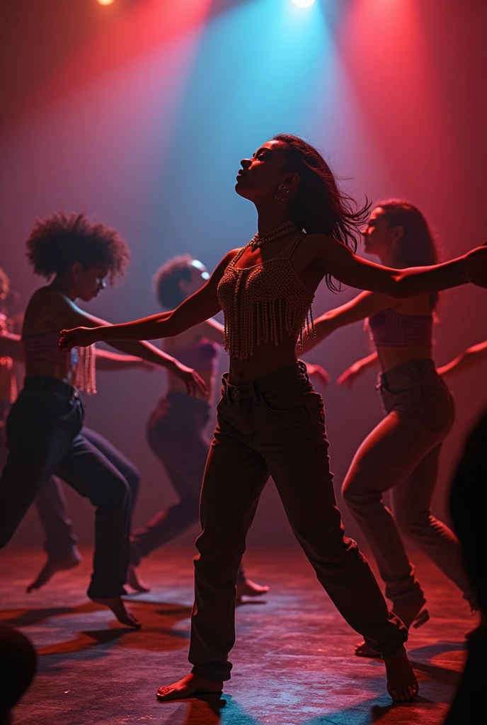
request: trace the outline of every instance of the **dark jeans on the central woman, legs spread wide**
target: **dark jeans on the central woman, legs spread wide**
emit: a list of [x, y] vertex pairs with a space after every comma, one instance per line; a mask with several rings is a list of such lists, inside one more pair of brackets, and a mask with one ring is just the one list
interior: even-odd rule
[[195, 604], [189, 660], [193, 672], [230, 679], [238, 566], [269, 476], [317, 578], [346, 621], [383, 655], [407, 631], [393, 613], [357, 544], [344, 536], [328, 463], [322, 398], [304, 363], [253, 383], [224, 376], [215, 437], [201, 492]]

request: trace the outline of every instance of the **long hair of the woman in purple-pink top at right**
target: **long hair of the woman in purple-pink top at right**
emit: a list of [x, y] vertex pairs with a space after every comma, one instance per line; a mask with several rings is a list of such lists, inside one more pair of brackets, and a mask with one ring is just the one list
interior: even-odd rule
[[[404, 269], [438, 264], [438, 245], [433, 231], [414, 204], [405, 202], [404, 199], [386, 199], [375, 206], [383, 210], [388, 228], [403, 228], [401, 239], [396, 243], [395, 267]], [[438, 305], [438, 299], [438, 292], [430, 294], [432, 311]]]

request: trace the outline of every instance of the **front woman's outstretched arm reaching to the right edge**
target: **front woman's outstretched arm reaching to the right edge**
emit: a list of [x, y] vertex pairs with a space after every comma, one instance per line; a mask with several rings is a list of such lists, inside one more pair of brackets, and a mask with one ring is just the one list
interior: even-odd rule
[[463, 257], [441, 265], [395, 270], [362, 260], [336, 239], [324, 234], [309, 235], [326, 273], [358, 289], [381, 292], [401, 299], [449, 289], [472, 282], [487, 286], [487, 247], [477, 247]]

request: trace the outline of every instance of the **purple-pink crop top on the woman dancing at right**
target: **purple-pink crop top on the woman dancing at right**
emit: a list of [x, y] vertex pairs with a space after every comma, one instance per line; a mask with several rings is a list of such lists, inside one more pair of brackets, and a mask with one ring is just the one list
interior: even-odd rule
[[368, 318], [367, 326], [375, 347], [422, 347], [433, 339], [433, 315], [402, 315], [389, 308]]

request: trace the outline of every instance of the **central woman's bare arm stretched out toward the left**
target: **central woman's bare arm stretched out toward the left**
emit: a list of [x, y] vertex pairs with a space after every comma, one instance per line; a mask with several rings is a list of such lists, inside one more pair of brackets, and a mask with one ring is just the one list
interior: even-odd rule
[[169, 315], [151, 315], [151, 317], [121, 325], [104, 325], [93, 327], [90, 330], [83, 330], [83, 328], [63, 330], [62, 349], [75, 347], [75, 345], [86, 346], [98, 341], [112, 343], [115, 340], [154, 340], [172, 337], [214, 317], [221, 310], [217, 297], [218, 283], [236, 251], [234, 249], [229, 252], [217, 266], [209, 281], [199, 291], [185, 299]]

